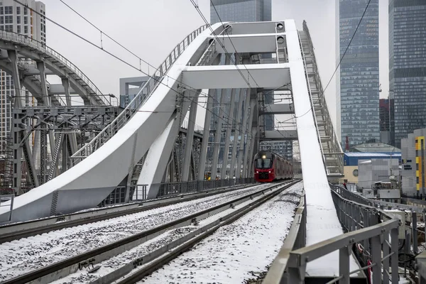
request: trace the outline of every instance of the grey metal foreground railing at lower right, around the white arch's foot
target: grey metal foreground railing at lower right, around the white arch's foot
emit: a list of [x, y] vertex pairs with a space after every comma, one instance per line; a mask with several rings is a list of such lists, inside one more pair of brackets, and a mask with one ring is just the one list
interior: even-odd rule
[[[398, 283], [399, 219], [376, 207], [346, 200], [334, 190], [332, 197], [339, 221], [347, 233], [303, 247], [306, 236], [306, 208], [301, 202], [285, 242], [263, 284], [304, 283], [308, 263], [337, 250], [339, 276], [327, 279], [329, 284], [340, 283], [341, 280], [349, 283], [350, 275], [367, 270], [368, 275], [373, 275], [373, 283]], [[364, 263], [361, 262], [361, 268], [350, 271], [354, 248]]]

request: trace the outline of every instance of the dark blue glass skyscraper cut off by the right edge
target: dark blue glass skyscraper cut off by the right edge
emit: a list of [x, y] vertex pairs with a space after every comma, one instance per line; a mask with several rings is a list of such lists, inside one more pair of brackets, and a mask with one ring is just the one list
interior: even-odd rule
[[391, 143], [426, 126], [426, 0], [389, 1]]

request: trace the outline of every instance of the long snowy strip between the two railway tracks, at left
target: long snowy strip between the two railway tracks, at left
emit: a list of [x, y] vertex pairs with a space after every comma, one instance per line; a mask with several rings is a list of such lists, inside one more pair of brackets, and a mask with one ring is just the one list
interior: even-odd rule
[[235, 190], [1, 244], [0, 280], [7, 280], [97, 249], [267, 186], [269, 185], [257, 185], [249, 189]]

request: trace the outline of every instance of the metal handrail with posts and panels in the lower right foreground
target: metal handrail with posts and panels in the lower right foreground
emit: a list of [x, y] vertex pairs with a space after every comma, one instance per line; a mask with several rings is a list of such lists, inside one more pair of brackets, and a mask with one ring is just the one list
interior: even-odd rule
[[[339, 195], [339, 193], [334, 190], [332, 191], [332, 195], [336, 205], [339, 221], [343, 226], [346, 226], [346, 229], [348, 229], [349, 232], [311, 246], [305, 246], [306, 222], [302, 219], [302, 217], [306, 214], [306, 207], [305, 204], [301, 203], [297, 208], [295, 219], [293, 220], [290, 231], [285, 238], [284, 244], [281, 247], [278, 256], [276, 256], [273, 261], [265, 280], [263, 280], [264, 284], [302, 283], [300, 281], [305, 278], [305, 268], [308, 261], [314, 261], [316, 258], [320, 258], [321, 256], [325, 256], [328, 253], [337, 250], [341, 251], [341, 256], [342, 253], [344, 253], [344, 258], [341, 258], [340, 260], [346, 263], [347, 271], [339, 271], [339, 276], [331, 280], [329, 283], [334, 283], [339, 279], [349, 278], [349, 275], [352, 273], [377, 266], [391, 256], [393, 259], [398, 259], [398, 256], [395, 256], [395, 253], [391, 253], [391, 246], [393, 248], [395, 245], [398, 246], [399, 219], [396, 219], [391, 214], [388, 214], [376, 207], [347, 200], [344, 196]], [[336, 203], [336, 200], [341, 203]], [[354, 209], [355, 207], [357, 209]], [[361, 210], [364, 214], [360, 214]], [[360, 215], [364, 215], [364, 219], [359, 219]], [[382, 221], [380, 222], [380, 220]], [[393, 235], [393, 237], [391, 235]], [[373, 261], [371, 266], [364, 266], [356, 271], [349, 271], [348, 266], [349, 259], [351, 257], [349, 250], [351, 249], [352, 244], [368, 244], [369, 241], [378, 241], [381, 239], [381, 236], [384, 237], [384, 242], [386, 242], [390, 253], [388, 253], [384, 244], [383, 250], [381, 249], [381, 246], [374, 246], [374, 249], [380, 249], [371, 251], [371, 255], [374, 255], [377, 260], [380, 258], [380, 251], [383, 251], [383, 258], [381, 258], [381, 261], [379, 260], [376, 263]], [[391, 236], [391, 239], [393, 240], [392, 245], [389, 241], [387, 241], [388, 236]], [[364, 247], [369, 248], [369, 246]], [[393, 263], [393, 268], [395, 268], [395, 263], [398, 263], [398, 261]], [[388, 266], [383, 264], [384, 270], [386, 270], [386, 267]], [[398, 267], [398, 264], [396, 264], [396, 267]], [[394, 269], [393, 271], [398, 271], [398, 269]], [[398, 272], [395, 275], [398, 277]], [[395, 278], [395, 275], [392, 275], [392, 277]]]

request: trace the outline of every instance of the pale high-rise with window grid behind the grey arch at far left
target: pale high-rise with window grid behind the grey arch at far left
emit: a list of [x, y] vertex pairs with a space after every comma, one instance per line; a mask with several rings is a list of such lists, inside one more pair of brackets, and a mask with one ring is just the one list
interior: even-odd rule
[[[31, 9], [45, 15], [45, 4], [42, 2], [27, 0], [26, 4]], [[21, 33], [41, 43], [46, 42], [45, 18], [13, 0], [0, 1], [0, 30]], [[26, 94], [26, 99], [15, 99], [22, 99], [23, 106], [33, 106], [37, 103], [24, 88], [21, 94]], [[11, 109], [14, 96], [15, 89], [12, 76], [0, 70], [0, 155], [4, 151], [4, 139], [9, 136], [11, 131]]]

